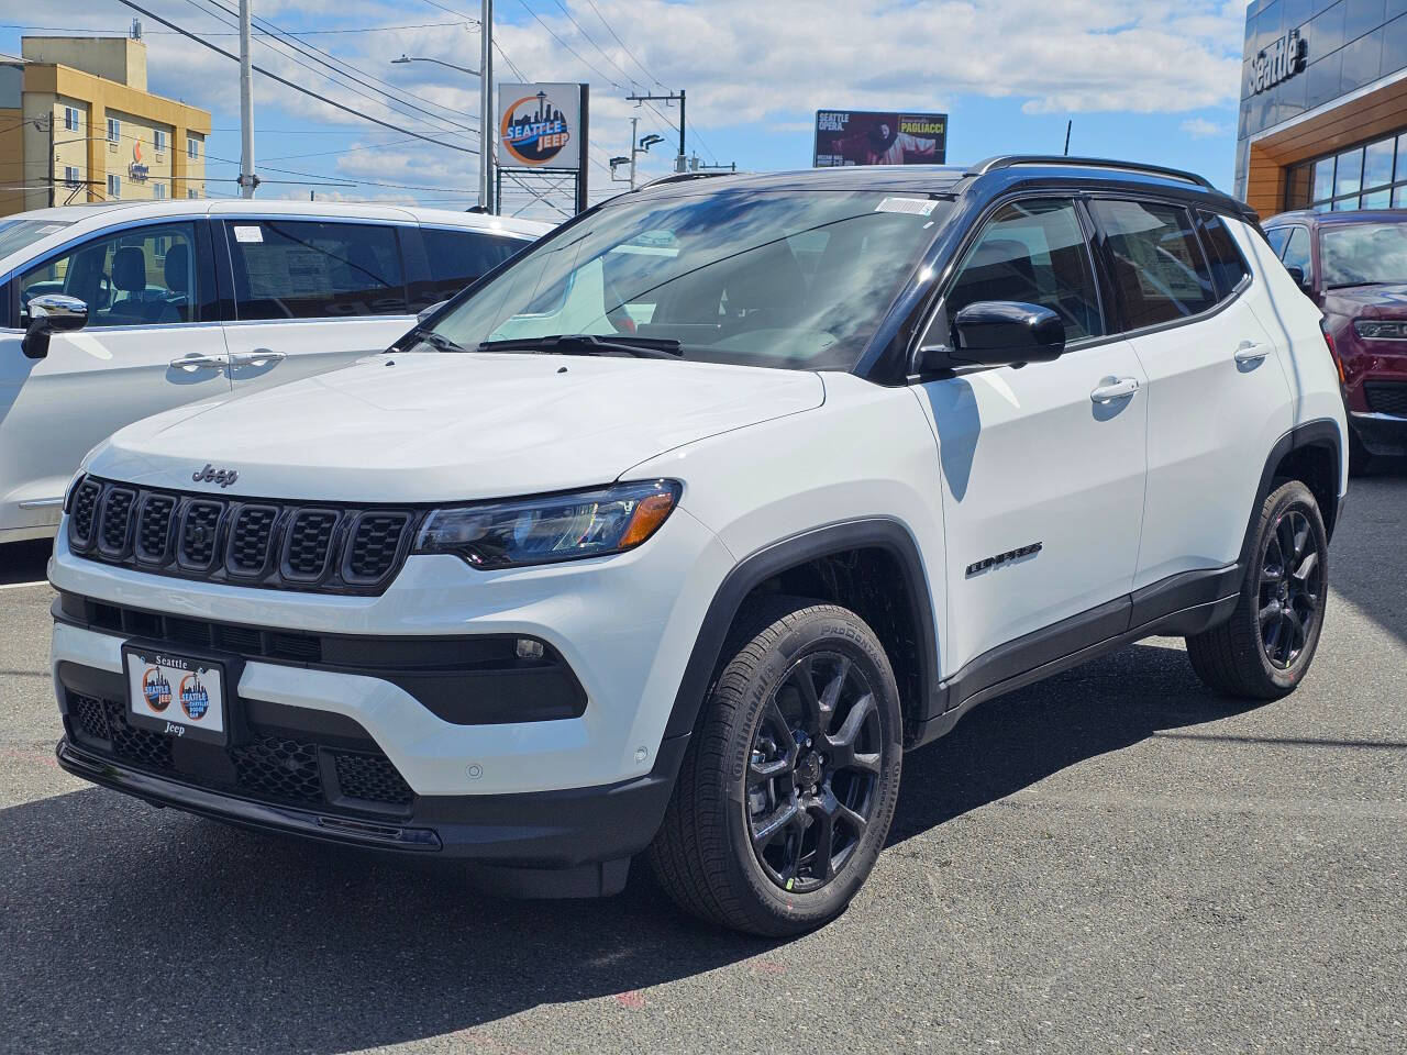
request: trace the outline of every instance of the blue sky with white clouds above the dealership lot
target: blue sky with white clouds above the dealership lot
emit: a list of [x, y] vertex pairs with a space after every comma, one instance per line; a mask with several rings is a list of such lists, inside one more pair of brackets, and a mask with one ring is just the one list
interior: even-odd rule
[[[139, 1], [236, 49], [221, 10], [236, 0]], [[674, 142], [675, 110], [650, 113], [623, 98], [661, 84], [688, 90], [691, 149], [743, 169], [809, 166], [817, 107], [931, 108], [950, 113], [954, 163], [1059, 152], [1072, 120], [1072, 153], [1175, 165], [1230, 187], [1244, 13], [1244, 0], [497, 0], [495, 37], [525, 79], [591, 83], [592, 198], [619, 188], [606, 183], [604, 162], [628, 151], [632, 114], [642, 115], [642, 134]], [[18, 53], [27, 32], [125, 32], [134, 14], [115, 0], [0, 0], [0, 51]], [[477, 148], [473, 77], [390, 63], [409, 52], [477, 66], [476, 0], [255, 0], [255, 14], [328, 53], [295, 56], [266, 37], [256, 63], [400, 128]], [[142, 21], [151, 89], [212, 111], [210, 190], [234, 194], [238, 167], [219, 159], [239, 156], [235, 63]], [[329, 76], [324, 58], [370, 83], [349, 86], [348, 70]], [[495, 73], [516, 79], [504, 60]], [[395, 103], [388, 86], [401, 90]], [[256, 83], [255, 124], [259, 170], [270, 180], [260, 196], [474, 201], [473, 155], [270, 82]], [[664, 172], [670, 151], [657, 146], [644, 172]]]

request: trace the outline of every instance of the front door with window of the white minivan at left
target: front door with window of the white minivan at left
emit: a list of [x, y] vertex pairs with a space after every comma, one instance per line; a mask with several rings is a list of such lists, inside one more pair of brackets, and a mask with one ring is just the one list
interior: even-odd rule
[[[106, 231], [21, 267], [14, 283], [20, 328], [0, 333], [0, 530], [58, 523], [69, 477], [110, 433], [229, 392], [204, 219]], [[84, 301], [89, 322], [28, 359], [27, 305], [45, 293]]]

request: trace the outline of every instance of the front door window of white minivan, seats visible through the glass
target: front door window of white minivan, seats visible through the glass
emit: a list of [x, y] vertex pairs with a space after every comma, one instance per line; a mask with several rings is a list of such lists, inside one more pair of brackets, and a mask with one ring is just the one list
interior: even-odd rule
[[158, 224], [84, 242], [20, 276], [20, 311], [46, 293], [89, 305], [90, 328], [198, 322], [193, 224]]

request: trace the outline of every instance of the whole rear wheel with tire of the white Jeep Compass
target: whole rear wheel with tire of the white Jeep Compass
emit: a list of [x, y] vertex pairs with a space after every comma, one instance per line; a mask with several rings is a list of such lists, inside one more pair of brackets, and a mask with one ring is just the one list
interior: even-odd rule
[[1279, 699], [1293, 692], [1314, 661], [1327, 599], [1324, 519], [1310, 490], [1290, 480], [1261, 505], [1235, 612], [1188, 639], [1192, 668], [1230, 696]]

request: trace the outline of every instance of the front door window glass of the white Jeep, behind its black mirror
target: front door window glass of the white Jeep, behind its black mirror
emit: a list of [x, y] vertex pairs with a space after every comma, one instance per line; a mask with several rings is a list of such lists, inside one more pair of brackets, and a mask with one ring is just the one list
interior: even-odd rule
[[1019, 301], [1055, 311], [1065, 339], [1104, 332], [1085, 234], [1069, 201], [1002, 205], [968, 250], [944, 301], [948, 319], [975, 301]]

